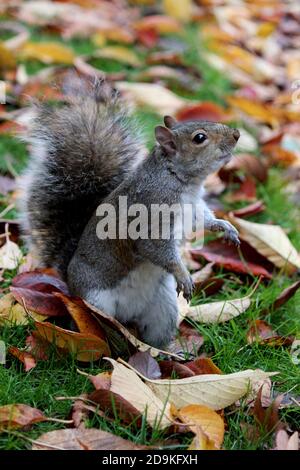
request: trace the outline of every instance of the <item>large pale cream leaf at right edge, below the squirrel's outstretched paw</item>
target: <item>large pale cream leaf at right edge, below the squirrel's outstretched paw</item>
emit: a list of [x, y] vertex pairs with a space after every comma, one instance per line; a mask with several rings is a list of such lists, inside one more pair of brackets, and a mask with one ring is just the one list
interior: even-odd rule
[[261, 255], [289, 274], [300, 269], [300, 256], [279, 225], [257, 224], [234, 217], [230, 221], [238, 228], [240, 238]]

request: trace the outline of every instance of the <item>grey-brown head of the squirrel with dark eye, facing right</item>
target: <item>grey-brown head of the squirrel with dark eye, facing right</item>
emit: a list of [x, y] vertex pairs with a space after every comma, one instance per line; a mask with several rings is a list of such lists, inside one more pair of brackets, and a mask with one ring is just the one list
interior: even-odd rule
[[239, 140], [237, 129], [209, 121], [177, 122], [164, 118], [155, 129], [158, 144], [174, 167], [192, 176], [207, 176], [228, 163]]

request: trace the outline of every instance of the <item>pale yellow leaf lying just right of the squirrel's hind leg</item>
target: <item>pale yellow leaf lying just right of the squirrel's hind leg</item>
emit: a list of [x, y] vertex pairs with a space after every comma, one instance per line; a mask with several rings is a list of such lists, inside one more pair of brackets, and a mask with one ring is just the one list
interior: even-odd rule
[[240, 299], [210, 302], [191, 307], [182, 294], [179, 295], [179, 313], [181, 318], [190, 318], [201, 323], [224, 323], [238, 317], [251, 304], [251, 295]]

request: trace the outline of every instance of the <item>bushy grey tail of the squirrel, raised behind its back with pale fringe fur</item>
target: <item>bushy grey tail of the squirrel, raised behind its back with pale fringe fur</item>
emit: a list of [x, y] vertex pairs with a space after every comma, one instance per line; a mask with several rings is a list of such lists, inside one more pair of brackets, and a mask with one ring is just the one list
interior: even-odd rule
[[75, 79], [68, 88], [65, 105], [36, 105], [20, 203], [30, 250], [62, 275], [98, 204], [144, 155], [130, 113], [107, 82]]

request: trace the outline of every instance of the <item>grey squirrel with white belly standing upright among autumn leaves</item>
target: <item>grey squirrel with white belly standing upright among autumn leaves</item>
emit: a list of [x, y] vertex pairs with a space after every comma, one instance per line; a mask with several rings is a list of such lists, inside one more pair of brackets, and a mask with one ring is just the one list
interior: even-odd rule
[[194, 289], [175, 240], [176, 217], [169, 238], [99, 238], [97, 207], [118, 209], [120, 197], [147, 210], [200, 203], [204, 228], [239, 244], [235, 227], [215, 218], [202, 190], [205, 178], [231, 158], [239, 131], [166, 116], [145, 155], [129, 115], [105, 81], [64, 107], [38, 107], [22, 225], [41, 264], [56, 268], [72, 294], [135, 324], [144, 342], [162, 348], [176, 333], [178, 292], [190, 300]]

